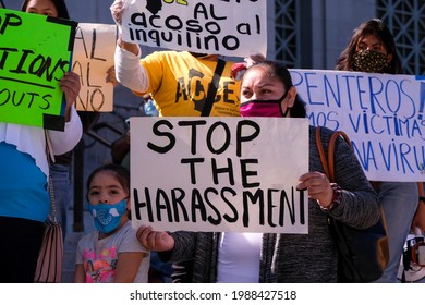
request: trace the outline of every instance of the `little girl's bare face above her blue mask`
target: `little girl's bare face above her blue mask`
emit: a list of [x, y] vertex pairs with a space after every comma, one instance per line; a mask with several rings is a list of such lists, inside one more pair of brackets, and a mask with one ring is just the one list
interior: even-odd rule
[[93, 178], [87, 193], [92, 205], [114, 205], [129, 197], [129, 192], [122, 187], [112, 173], [107, 171], [99, 172]]

